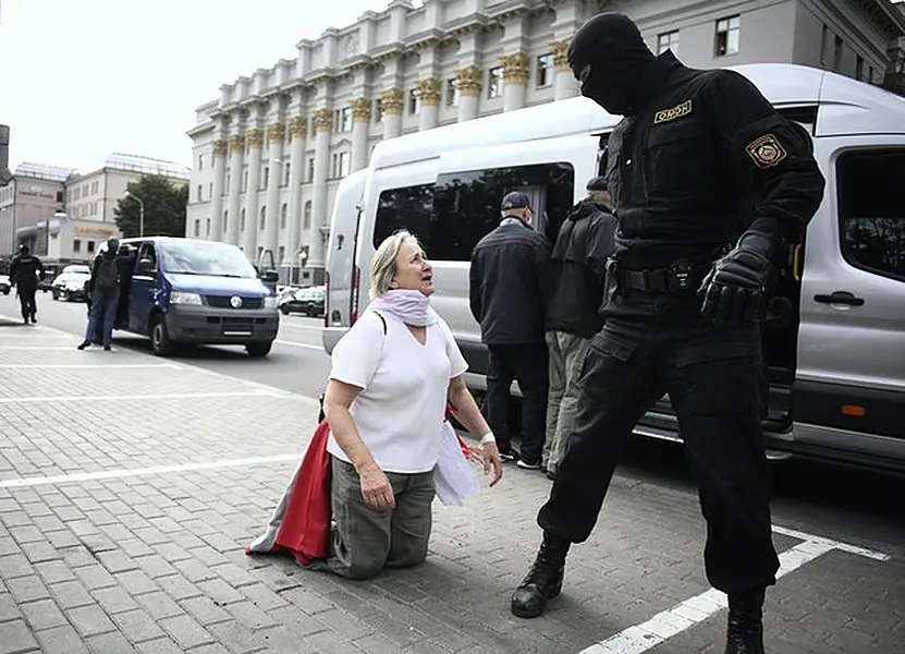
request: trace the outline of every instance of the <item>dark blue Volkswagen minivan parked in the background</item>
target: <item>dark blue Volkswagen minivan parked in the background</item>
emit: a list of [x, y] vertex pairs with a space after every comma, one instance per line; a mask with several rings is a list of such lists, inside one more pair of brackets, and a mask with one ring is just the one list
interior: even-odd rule
[[135, 267], [121, 282], [129, 299], [117, 329], [150, 337], [158, 356], [180, 344], [237, 344], [252, 356], [270, 352], [280, 328], [276, 270], [259, 271], [229, 243], [151, 237], [120, 244], [135, 249]]

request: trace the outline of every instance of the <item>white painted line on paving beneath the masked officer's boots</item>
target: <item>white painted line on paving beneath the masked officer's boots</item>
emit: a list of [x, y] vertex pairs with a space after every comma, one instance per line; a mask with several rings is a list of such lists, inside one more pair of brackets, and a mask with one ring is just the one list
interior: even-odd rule
[[[804, 541], [780, 554], [780, 569], [776, 572], [776, 579], [785, 577], [833, 549], [881, 561], [890, 558], [886, 554], [782, 526], [774, 526], [773, 531], [778, 534]], [[647, 622], [629, 627], [604, 641], [585, 647], [578, 654], [643, 654], [702, 622], [726, 608], [726, 606], [725, 593], [710, 589], [669, 610], [657, 614]]]

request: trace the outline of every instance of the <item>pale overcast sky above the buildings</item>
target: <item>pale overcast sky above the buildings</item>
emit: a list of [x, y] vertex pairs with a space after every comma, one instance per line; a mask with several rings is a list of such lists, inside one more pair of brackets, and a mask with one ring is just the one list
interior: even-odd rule
[[[111, 153], [191, 165], [185, 132], [220, 85], [387, 0], [0, 0], [10, 168], [89, 172]], [[416, 4], [420, 4], [416, 2]]]

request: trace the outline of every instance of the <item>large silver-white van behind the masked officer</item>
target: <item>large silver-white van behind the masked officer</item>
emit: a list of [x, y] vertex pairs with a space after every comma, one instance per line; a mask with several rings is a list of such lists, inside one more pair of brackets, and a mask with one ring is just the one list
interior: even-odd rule
[[[767, 322], [771, 455], [905, 471], [905, 98], [793, 64], [734, 69], [812, 135], [827, 177], [805, 242], [790, 255]], [[485, 389], [487, 352], [468, 310], [468, 262], [518, 187], [562, 216], [600, 174], [619, 118], [572, 98], [383, 142], [343, 180], [328, 254], [323, 346], [331, 352], [367, 303], [380, 241], [408, 228], [435, 267], [433, 307], [449, 322]], [[676, 440], [663, 398], [638, 424]]]

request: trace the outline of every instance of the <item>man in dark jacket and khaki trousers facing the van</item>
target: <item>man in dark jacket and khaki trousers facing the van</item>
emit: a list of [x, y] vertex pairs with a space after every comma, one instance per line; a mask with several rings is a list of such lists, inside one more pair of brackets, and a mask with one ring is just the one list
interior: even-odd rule
[[572, 207], [560, 227], [547, 281], [550, 396], [541, 465], [551, 480], [575, 417], [575, 379], [587, 356], [590, 338], [603, 327], [599, 307], [607, 261], [615, 249], [616, 219], [611, 213], [607, 182], [594, 178], [586, 189], [587, 197]]

